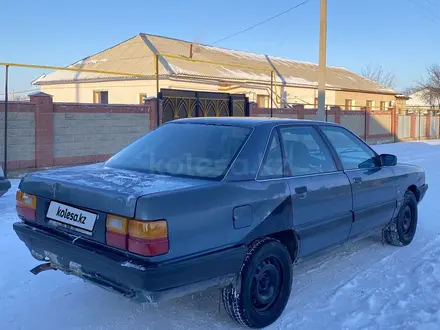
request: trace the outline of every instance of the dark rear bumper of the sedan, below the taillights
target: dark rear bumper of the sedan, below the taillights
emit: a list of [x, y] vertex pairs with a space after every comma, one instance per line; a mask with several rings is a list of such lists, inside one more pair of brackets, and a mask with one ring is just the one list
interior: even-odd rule
[[138, 301], [160, 301], [230, 284], [247, 253], [245, 246], [197, 257], [152, 263], [131, 253], [14, 223], [34, 258]]

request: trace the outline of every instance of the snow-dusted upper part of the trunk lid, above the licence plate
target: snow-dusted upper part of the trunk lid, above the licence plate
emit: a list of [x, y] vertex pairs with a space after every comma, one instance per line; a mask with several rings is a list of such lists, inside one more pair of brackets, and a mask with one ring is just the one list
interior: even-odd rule
[[23, 178], [19, 189], [71, 206], [134, 217], [136, 201], [140, 196], [206, 183], [204, 180], [120, 170], [105, 167], [104, 164], [93, 164], [28, 174]]

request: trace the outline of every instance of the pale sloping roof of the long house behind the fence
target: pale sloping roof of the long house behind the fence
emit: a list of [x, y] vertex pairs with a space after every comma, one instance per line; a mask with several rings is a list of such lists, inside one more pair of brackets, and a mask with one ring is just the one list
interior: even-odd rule
[[[192, 58], [190, 58], [191, 48]], [[135, 78], [127, 76], [127, 74], [145, 75], [153, 78], [155, 75], [154, 54], [158, 53], [173, 56], [159, 57], [159, 74], [161, 76], [270, 83], [270, 72], [274, 71], [278, 84], [308, 87], [318, 85], [319, 67], [314, 63], [206, 46], [149, 34], [139, 34], [114, 47], [70, 65], [70, 67], [79, 69], [121, 72], [125, 75], [55, 71], [39, 77], [34, 83], [56, 84]], [[212, 62], [222, 63], [223, 65]], [[340, 67], [327, 67], [326, 83], [329, 89], [398, 94], [390, 88]]]

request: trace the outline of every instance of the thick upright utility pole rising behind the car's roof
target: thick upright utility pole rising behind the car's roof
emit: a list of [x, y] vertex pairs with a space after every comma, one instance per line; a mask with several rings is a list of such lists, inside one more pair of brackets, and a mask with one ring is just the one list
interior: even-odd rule
[[319, 78], [317, 120], [325, 121], [325, 72], [327, 69], [327, 0], [321, 0], [319, 27]]

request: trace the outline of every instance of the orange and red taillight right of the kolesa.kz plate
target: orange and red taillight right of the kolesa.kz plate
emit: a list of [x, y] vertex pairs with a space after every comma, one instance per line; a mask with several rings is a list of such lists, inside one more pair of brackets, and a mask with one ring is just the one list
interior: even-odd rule
[[109, 214], [106, 229], [108, 245], [147, 257], [169, 251], [165, 220], [140, 221]]

